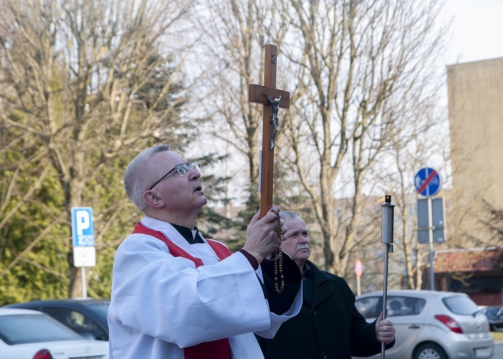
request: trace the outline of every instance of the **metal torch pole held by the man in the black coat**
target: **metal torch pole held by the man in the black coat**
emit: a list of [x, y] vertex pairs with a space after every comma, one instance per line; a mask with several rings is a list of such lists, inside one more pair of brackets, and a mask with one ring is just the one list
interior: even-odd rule
[[[393, 216], [395, 204], [391, 204], [391, 195], [384, 196], [381, 204], [381, 242], [384, 244], [384, 278], [383, 278], [383, 320], [386, 319], [388, 307], [388, 258], [393, 251]], [[384, 359], [386, 344], [381, 342], [381, 359]]]

